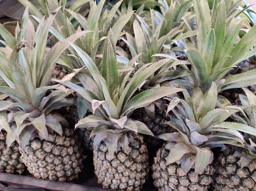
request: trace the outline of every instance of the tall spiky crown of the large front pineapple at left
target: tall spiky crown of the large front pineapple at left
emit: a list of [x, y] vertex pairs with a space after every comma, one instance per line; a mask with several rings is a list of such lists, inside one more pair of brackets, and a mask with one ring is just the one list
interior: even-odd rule
[[[75, 104], [73, 99], [65, 98], [72, 92], [64, 86], [47, 86], [58, 56], [70, 46], [68, 41], [74, 42], [87, 33], [77, 32], [68, 37], [68, 41], [60, 40], [55, 46], [46, 47], [50, 26], [59, 9], [48, 19], [43, 18], [35, 31], [32, 21], [29, 20], [27, 7], [21, 29], [17, 24], [15, 37], [0, 25], [0, 34], [5, 40], [2, 41], [5, 48], [0, 53], [0, 77], [5, 86], [0, 86], [0, 92], [13, 99], [0, 101], [2, 127], [8, 133], [9, 146], [18, 137], [21, 145], [26, 146], [34, 132], [46, 139], [47, 127], [61, 135], [62, 129], [56, 119], [58, 117], [51, 113], [62, 106]], [[11, 111], [9, 118], [5, 110]], [[12, 119], [15, 124], [10, 127], [8, 121]]]

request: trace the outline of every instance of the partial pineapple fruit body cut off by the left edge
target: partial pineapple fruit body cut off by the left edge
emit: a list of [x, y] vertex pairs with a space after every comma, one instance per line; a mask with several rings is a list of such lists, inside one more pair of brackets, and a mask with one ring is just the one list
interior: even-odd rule
[[6, 145], [6, 132], [0, 131], [0, 172], [21, 173], [25, 164], [20, 158], [19, 144], [13, 142], [9, 148]]

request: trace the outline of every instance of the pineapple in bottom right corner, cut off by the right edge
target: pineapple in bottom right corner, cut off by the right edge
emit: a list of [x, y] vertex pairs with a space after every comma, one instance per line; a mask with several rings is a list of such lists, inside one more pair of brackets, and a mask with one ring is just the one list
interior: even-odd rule
[[[235, 115], [238, 122], [246, 127], [255, 128], [256, 96], [243, 88], [245, 95], [239, 95], [243, 106], [250, 106], [242, 111], [242, 116]], [[216, 184], [214, 190], [255, 190], [256, 189], [256, 139], [245, 133], [245, 146], [227, 147], [215, 162]]]

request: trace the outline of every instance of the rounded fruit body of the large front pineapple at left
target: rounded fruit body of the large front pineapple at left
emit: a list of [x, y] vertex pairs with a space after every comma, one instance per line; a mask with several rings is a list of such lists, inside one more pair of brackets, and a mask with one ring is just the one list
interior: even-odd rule
[[72, 129], [63, 129], [63, 136], [49, 134], [49, 139], [30, 139], [25, 148], [19, 147], [21, 159], [36, 178], [73, 180], [82, 168], [78, 136]]

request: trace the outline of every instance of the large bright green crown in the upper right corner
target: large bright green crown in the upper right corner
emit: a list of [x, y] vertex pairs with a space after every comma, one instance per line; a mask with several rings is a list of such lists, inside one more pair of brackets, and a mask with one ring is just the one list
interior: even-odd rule
[[247, 26], [250, 30], [237, 41], [242, 24], [246, 21], [237, 22], [235, 17], [239, 15], [239, 11], [231, 11], [231, 14], [228, 9], [230, 2], [215, 1], [214, 9], [210, 10], [206, 0], [193, 0], [197, 41], [192, 44], [185, 40], [184, 43], [192, 65], [191, 70], [186, 70], [192, 74], [170, 84], [181, 85], [189, 91], [199, 86], [203, 92], [207, 91], [213, 81], [218, 85], [218, 92], [255, 84], [254, 70], [224, 78], [230, 69], [256, 53], [256, 48], [252, 48], [256, 43], [256, 39], [253, 38], [256, 27]]

